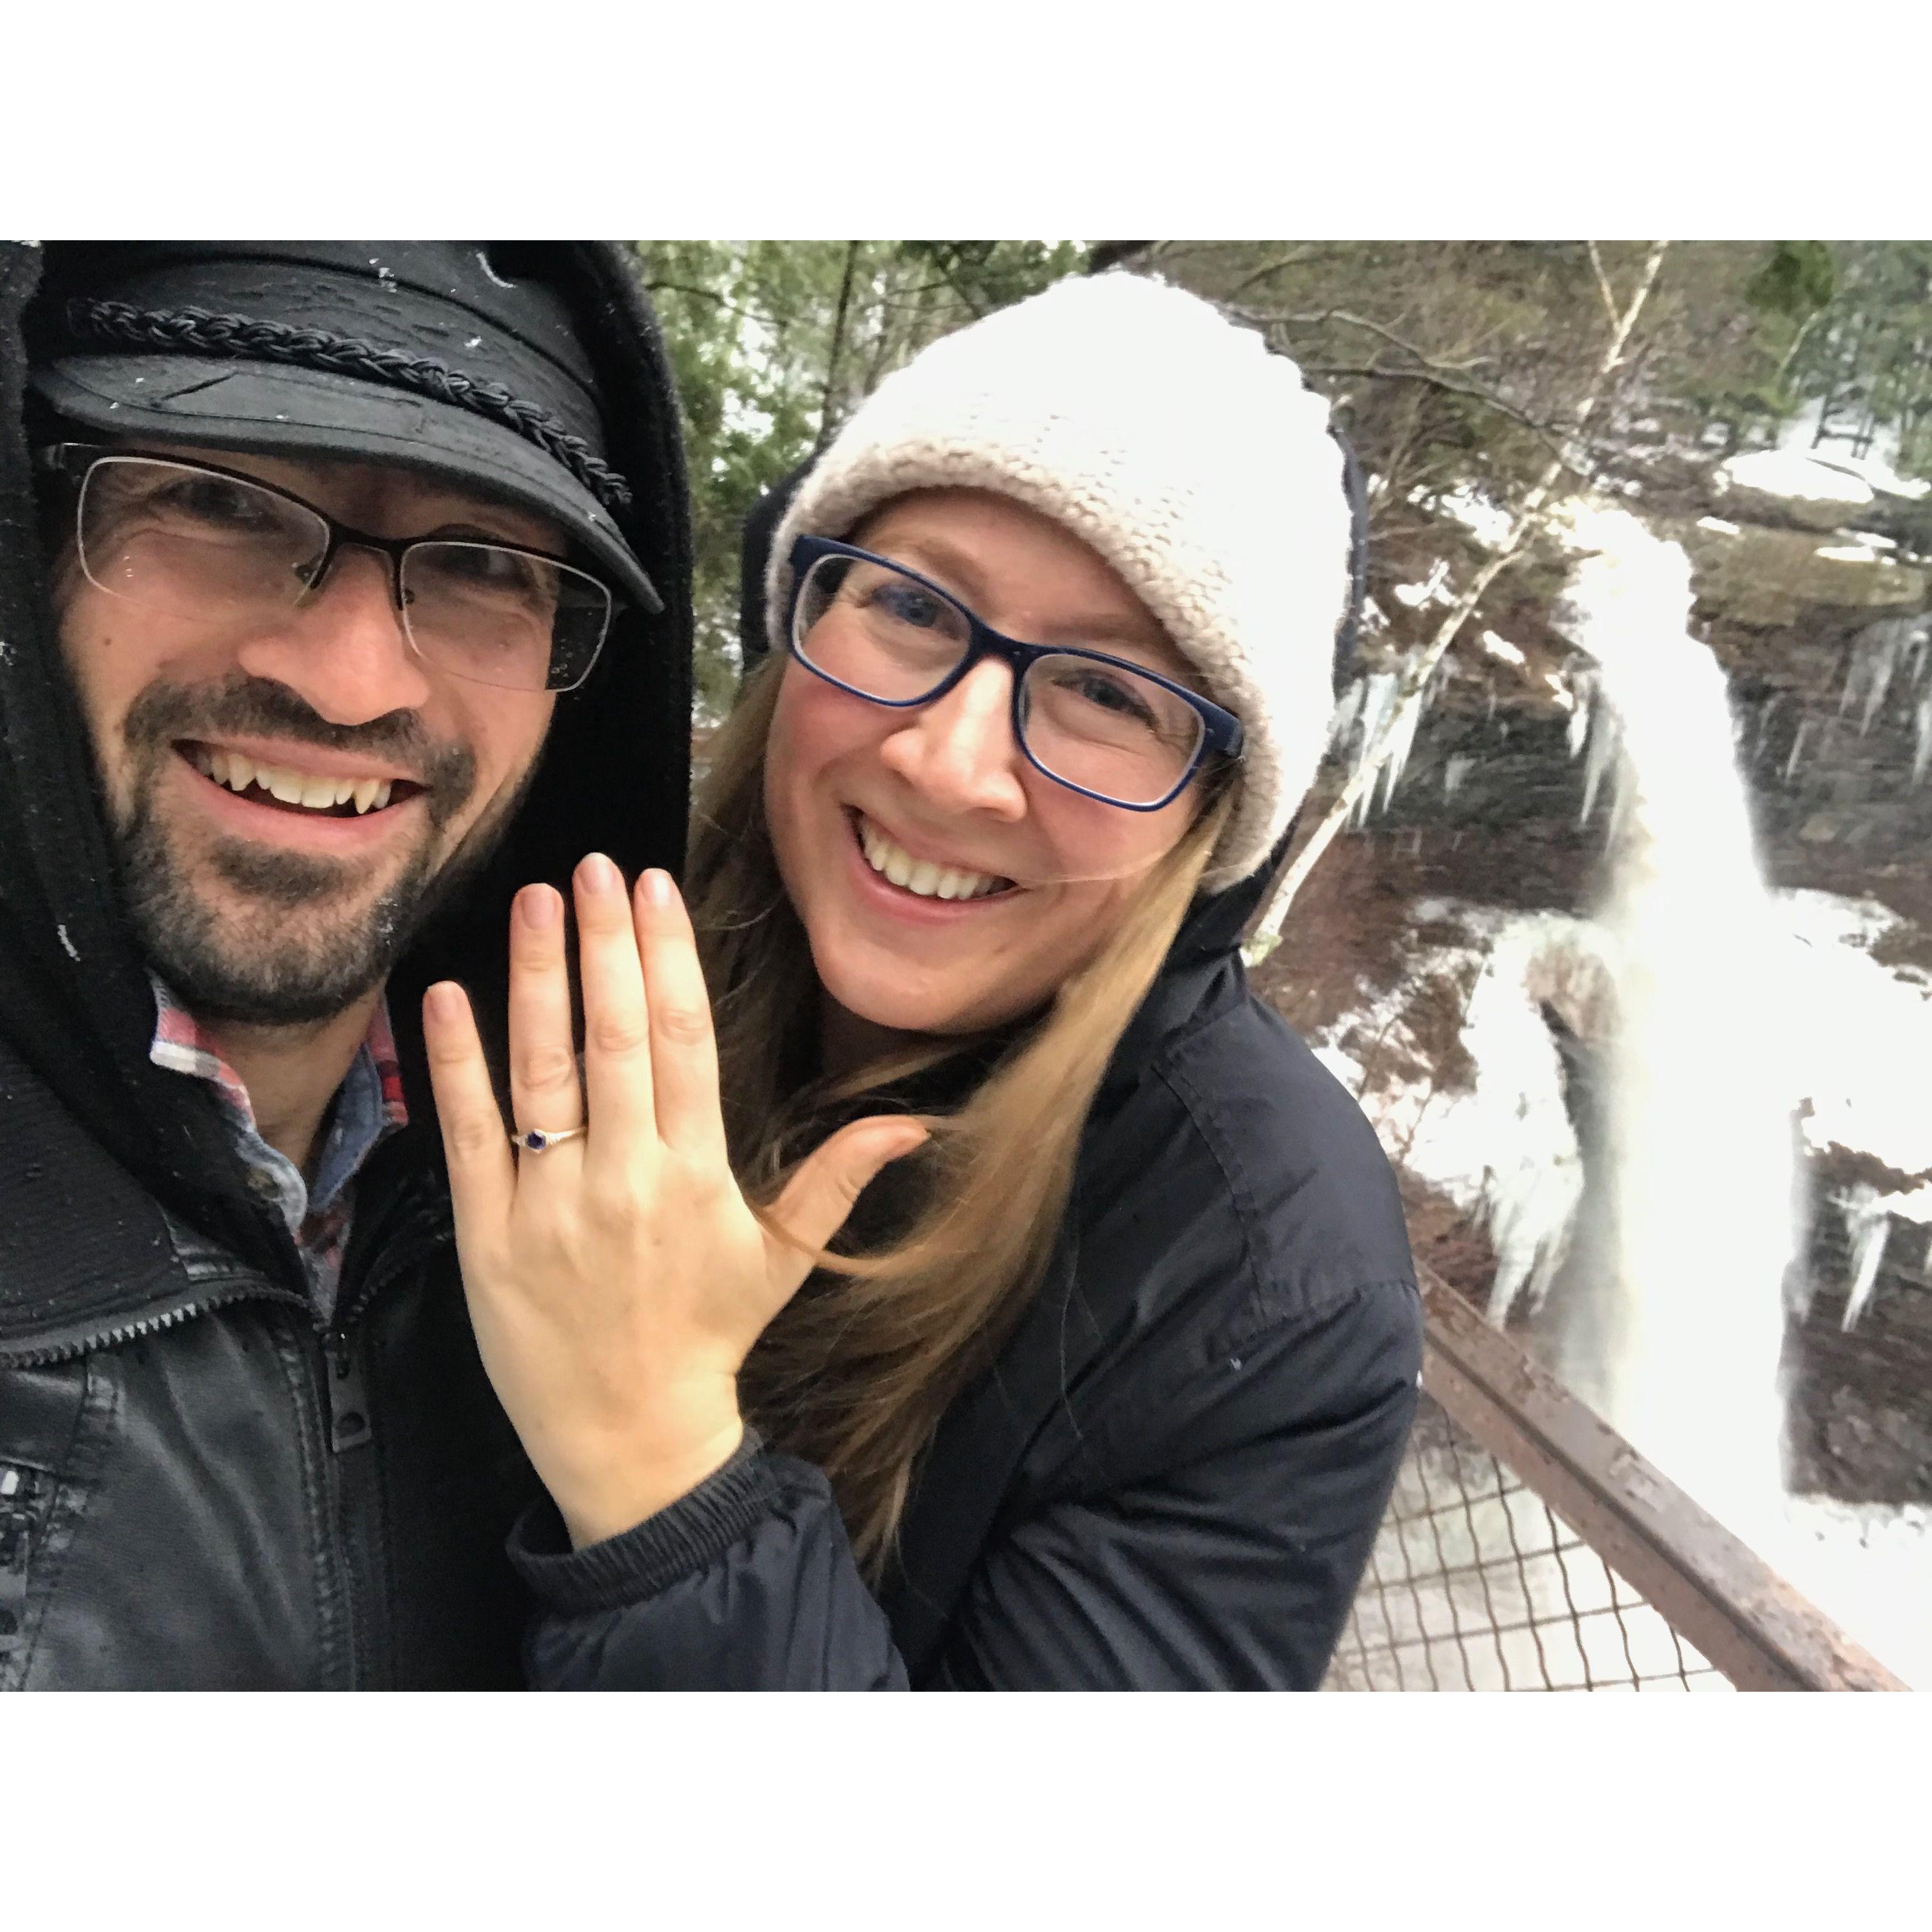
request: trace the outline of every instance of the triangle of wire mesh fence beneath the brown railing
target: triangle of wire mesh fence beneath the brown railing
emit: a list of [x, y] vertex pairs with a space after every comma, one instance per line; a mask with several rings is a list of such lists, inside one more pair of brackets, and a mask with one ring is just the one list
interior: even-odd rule
[[1731, 1681], [1422, 1395], [1327, 1690], [1729, 1690]]

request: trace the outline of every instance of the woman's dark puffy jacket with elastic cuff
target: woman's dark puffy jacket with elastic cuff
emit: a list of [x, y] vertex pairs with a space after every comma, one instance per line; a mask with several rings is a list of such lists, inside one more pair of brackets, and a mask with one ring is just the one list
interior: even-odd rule
[[1314, 1689], [1414, 1414], [1422, 1314], [1376, 1136], [1248, 991], [1262, 891], [1196, 906], [1115, 1053], [1051, 1277], [941, 1422], [875, 1598], [823, 1474], [755, 1437], [518, 1569], [556, 1689]]

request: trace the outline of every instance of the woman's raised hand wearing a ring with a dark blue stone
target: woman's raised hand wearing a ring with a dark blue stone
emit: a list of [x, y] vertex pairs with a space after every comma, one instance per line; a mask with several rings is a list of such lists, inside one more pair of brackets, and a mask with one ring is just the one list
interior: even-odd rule
[[732, 1179], [711, 1005], [684, 902], [647, 871], [636, 902], [593, 854], [574, 879], [583, 1082], [570, 1034], [564, 902], [510, 912], [512, 1153], [462, 987], [423, 999], [456, 1250], [483, 1366], [570, 1540], [614, 1536], [696, 1488], [744, 1437], [738, 1368], [864, 1186], [925, 1132], [856, 1121], [759, 1225]]

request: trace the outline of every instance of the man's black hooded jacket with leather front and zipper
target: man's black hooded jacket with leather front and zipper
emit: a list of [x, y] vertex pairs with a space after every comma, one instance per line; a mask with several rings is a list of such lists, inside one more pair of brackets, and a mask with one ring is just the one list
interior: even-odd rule
[[410, 1126], [355, 1180], [323, 1329], [207, 1084], [149, 1063], [23, 419], [23, 328], [71, 259], [0, 245], [0, 1687], [520, 1683], [504, 1538], [539, 1492], [469, 1335], [419, 999], [454, 972], [500, 1016], [514, 889], [587, 850], [676, 866], [690, 771], [670, 377], [618, 249], [549, 247], [667, 609], [558, 699], [508, 844], [390, 980]]

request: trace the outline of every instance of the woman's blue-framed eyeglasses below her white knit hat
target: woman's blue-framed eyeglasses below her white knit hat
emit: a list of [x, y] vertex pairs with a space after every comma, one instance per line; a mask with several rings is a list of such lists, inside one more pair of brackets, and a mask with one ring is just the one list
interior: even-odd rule
[[829, 537], [792, 545], [788, 636], [806, 670], [902, 711], [943, 697], [980, 659], [1005, 659], [1026, 761], [1124, 811], [1159, 811], [1208, 757], [1240, 757], [1240, 719], [1173, 678], [1107, 651], [1005, 638], [916, 570]]

